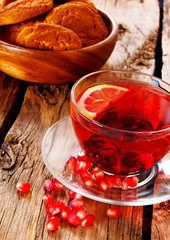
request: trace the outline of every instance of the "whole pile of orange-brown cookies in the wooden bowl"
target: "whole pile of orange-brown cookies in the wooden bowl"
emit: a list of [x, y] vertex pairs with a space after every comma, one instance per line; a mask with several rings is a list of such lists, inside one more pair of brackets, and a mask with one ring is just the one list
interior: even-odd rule
[[0, 26], [1, 40], [33, 49], [80, 49], [108, 36], [90, 0], [2, 0]]

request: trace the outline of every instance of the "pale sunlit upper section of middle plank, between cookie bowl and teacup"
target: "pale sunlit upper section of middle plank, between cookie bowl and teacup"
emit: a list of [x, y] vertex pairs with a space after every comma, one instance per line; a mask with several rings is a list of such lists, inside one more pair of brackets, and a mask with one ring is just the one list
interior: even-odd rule
[[[154, 73], [159, 30], [159, 5], [153, 0], [93, 2], [106, 9], [119, 24], [118, 42], [104, 68], [134, 69]], [[152, 9], [152, 10], [151, 10]]]

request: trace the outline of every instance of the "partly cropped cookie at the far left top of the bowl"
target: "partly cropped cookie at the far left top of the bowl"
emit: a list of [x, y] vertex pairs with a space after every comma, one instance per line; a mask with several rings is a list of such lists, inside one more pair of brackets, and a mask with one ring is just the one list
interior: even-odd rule
[[53, 8], [53, 0], [16, 0], [0, 9], [0, 26], [29, 20]]

